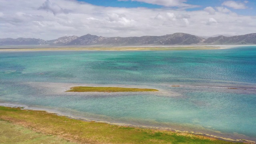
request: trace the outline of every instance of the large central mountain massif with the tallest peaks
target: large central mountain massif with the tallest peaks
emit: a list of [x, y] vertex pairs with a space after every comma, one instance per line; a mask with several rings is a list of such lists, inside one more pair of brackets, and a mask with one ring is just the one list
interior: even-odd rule
[[141, 36], [141, 37], [102, 37], [86, 34], [68, 43], [68, 45], [172, 45], [172, 44], [197, 44], [204, 39], [198, 36], [185, 33], [167, 34], [164, 36]]

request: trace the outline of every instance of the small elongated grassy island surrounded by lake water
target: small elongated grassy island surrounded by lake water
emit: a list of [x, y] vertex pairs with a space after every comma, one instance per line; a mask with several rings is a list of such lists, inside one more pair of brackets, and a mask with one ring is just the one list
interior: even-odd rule
[[158, 90], [149, 88], [120, 88], [120, 87], [91, 87], [74, 86], [66, 92], [156, 92]]

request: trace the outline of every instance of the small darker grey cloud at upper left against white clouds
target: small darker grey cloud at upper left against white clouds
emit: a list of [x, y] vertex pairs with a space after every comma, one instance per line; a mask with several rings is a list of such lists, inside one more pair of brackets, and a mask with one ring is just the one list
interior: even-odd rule
[[46, 0], [42, 6], [38, 8], [39, 10], [46, 10], [52, 12], [54, 15], [58, 13], [68, 13], [67, 9], [61, 8], [58, 4], [56, 3], [51, 3], [49, 0]]

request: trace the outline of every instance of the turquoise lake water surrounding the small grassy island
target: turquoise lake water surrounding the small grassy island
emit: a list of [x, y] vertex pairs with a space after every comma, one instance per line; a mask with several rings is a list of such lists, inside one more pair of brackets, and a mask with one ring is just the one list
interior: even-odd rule
[[[160, 92], [64, 92], [65, 86], [77, 84]], [[182, 130], [206, 128], [255, 140], [256, 47], [0, 52], [0, 102], [108, 122], [180, 124]]]

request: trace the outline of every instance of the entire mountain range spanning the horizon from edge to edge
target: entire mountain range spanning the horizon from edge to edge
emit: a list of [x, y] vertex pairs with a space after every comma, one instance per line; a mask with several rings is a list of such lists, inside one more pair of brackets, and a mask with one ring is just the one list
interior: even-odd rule
[[84, 46], [138, 46], [138, 45], [220, 45], [220, 44], [256, 44], [256, 33], [239, 36], [216, 36], [202, 38], [185, 33], [167, 34], [164, 36], [141, 37], [103, 37], [86, 34], [84, 36], [64, 36], [55, 40], [36, 38], [2, 38], [0, 46], [11, 45], [84, 45]]

